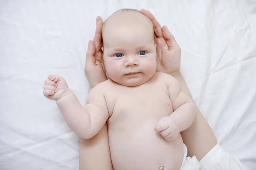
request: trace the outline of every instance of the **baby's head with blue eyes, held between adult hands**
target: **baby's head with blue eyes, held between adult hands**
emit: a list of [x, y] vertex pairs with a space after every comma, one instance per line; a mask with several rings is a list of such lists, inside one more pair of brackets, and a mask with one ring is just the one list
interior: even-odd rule
[[103, 23], [103, 60], [109, 78], [125, 86], [147, 82], [157, 68], [154, 29], [137, 10], [121, 9]]

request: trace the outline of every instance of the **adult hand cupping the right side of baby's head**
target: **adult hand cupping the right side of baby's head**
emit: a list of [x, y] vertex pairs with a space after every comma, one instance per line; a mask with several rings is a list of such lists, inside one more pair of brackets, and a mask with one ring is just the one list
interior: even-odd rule
[[170, 33], [167, 26], [161, 27], [160, 23], [149, 11], [141, 9], [140, 13], [148, 17], [154, 27], [157, 39], [157, 71], [171, 74], [172, 76], [180, 74], [181, 49], [175, 37]]

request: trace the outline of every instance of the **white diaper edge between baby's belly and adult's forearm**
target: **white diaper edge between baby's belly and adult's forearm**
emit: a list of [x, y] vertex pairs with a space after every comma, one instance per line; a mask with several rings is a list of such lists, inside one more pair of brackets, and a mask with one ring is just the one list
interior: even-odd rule
[[180, 170], [199, 170], [199, 162], [195, 156], [192, 158], [187, 157], [188, 149], [186, 145], [183, 144], [183, 161], [180, 166]]

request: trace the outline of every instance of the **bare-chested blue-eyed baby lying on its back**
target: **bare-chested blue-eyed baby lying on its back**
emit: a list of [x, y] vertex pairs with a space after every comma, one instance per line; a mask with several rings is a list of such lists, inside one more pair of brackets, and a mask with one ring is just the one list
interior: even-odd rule
[[58, 75], [48, 76], [44, 95], [56, 100], [81, 138], [92, 138], [108, 123], [114, 170], [185, 170], [180, 131], [192, 124], [195, 106], [174, 77], [156, 71], [151, 21], [135, 10], [117, 11], [104, 22], [102, 39], [109, 79], [90, 91], [87, 105]]

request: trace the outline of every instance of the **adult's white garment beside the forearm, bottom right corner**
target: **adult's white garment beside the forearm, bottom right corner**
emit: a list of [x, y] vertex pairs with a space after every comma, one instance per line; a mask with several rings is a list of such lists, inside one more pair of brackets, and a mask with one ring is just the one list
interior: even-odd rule
[[241, 162], [216, 144], [199, 162], [200, 170], [242, 170]]

